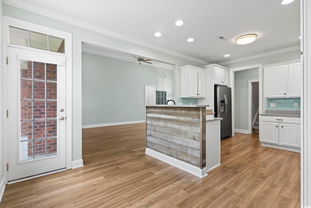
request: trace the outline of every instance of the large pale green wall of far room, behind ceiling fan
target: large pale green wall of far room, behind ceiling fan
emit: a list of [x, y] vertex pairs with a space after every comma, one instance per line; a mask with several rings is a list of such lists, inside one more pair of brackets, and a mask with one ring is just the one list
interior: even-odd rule
[[82, 125], [144, 120], [145, 85], [173, 99], [173, 70], [82, 53]]

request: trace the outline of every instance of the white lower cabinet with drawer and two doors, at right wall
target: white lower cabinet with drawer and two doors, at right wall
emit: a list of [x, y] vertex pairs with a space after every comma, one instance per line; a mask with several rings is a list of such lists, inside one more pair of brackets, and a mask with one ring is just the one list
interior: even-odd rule
[[300, 151], [300, 118], [260, 116], [262, 146]]

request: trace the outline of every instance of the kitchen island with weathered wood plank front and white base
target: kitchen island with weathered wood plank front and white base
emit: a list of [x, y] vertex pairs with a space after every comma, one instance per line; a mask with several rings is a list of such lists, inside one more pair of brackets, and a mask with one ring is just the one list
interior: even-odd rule
[[219, 138], [216, 138], [216, 144], [212, 144], [215, 146], [212, 149], [219, 149], [216, 151], [219, 155], [207, 158], [207, 150], [211, 147], [207, 147], [206, 143], [207, 120], [210, 120], [206, 119], [206, 107], [208, 106], [147, 105], [146, 154], [198, 177], [207, 176], [207, 159], [219, 157], [220, 164], [220, 119], [213, 118], [213, 121], [219, 121], [219, 131], [216, 128], [216, 137], [219, 134]]

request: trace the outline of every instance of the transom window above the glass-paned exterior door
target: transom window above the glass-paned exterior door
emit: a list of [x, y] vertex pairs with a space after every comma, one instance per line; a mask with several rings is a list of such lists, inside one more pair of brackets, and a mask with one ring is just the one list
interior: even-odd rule
[[10, 25], [10, 43], [65, 54], [65, 39]]

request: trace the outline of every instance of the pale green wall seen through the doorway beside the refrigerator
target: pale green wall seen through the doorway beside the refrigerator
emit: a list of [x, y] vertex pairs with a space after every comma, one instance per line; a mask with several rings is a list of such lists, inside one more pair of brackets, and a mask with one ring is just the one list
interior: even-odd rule
[[234, 73], [234, 123], [235, 129], [248, 131], [248, 80], [259, 79], [259, 69]]

